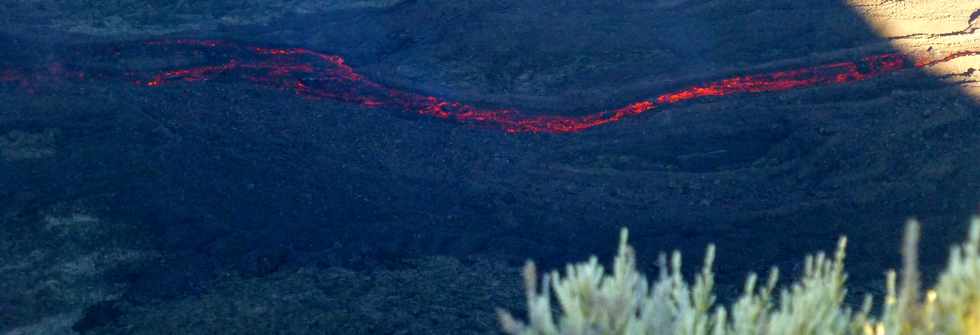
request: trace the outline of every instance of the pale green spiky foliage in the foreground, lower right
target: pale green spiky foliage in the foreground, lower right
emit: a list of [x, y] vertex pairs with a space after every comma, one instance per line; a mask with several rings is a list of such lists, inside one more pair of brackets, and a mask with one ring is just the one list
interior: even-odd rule
[[[652, 283], [636, 270], [627, 232], [620, 236], [612, 272], [595, 257], [568, 265], [564, 275], [552, 271], [541, 278], [533, 263], [525, 267], [527, 324], [500, 311], [506, 333], [520, 335], [903, 335], [980, 334], [980, 218], [975, 218], [966, 243], [952, 249], [949, 266], [938, 285], [919, 297], [916, 270], [918, 224], [910, 221], [903, 245], [905, 270], [896, 289], [894, 271], [887, 276], [880, 318], [870, 315], [871, 297], [861, 310], [844, 305], [844, 248], [841, 238], [833, 257], [807, 256], [799, 281], [779, 292], [773, 268], [764, 286], [750, 274], [743, 294], [731, 306], [715, 306], [714, 247], [708, 246], [704, 266], [689, 284], [681, 275], [681, 257], [674, 252]], [[557, 298], [557, 315], [551, 306]], [[879, 321], [880, 320], [880, 321]]]

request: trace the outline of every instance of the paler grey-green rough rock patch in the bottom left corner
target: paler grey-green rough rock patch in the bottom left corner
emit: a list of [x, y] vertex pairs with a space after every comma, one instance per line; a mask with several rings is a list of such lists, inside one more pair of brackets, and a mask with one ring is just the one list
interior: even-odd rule
[[90, 216], [84, 207], [69, 203], [40, 216], [2, 217], [0, 329], [72, 333], [83, 309], [125, 292], [114, 275], [153, 259], [135, 227]]

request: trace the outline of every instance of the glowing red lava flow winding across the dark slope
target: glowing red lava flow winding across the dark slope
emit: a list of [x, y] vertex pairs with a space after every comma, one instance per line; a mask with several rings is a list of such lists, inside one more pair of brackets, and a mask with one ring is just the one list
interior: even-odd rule
[[[147, 87], [159, 87], [176, 81], [247, 80], [291, 90], [310, 98], [353, 103], [367, 108], [395, 109], [467, 124], [491, 125], [509, 133], [577, 132], [701, 97], [776, 92], [860, 81], [903, 69], [927, 67], [958, 57], [980, 54], [980, 51], [965, 51], [942, 59], [918, 62], [900, 54], [873, 55], [855, 62], [732, 77], [668, 92], [618, 109], [583, 116], [557, 116], [525, 115], [513, 109], [480, 109], [388, 88], [358, 74], [340, 56], [309, 49], [250, 47], [227, 41], [192, 39], [147, 41], [144, 45], [179, 47], [182, 48], [181, 51], [204, 52], [208, 59], [219, 59], [212, 65], [165, 71], [137, 81]], [[18, 77], [20, 76], [15, 72], [0, 72], [0, 82], [15, 81]]]

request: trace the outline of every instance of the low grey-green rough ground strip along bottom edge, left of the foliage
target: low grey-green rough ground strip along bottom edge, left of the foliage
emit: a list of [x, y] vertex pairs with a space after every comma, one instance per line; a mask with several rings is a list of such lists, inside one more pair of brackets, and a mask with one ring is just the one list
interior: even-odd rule
[[101, 334], [494, 334], [495, 306], [521, 301], [515, 268], [435, 257], [397, 270], [229, 275], [209, 292], [129, 306]]

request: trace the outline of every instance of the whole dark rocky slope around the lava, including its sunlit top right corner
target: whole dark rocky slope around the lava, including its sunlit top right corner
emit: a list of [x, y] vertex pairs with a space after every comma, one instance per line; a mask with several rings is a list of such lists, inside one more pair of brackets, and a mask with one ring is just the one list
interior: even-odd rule
[[[0, 4], [0, 68], [168, 68], [201, 60], [86, 63], [63, 46], [224, 38], [573, 115], [732, 75], [980, 45], [972, 1], [851, 4], [14, 0]], [[526, 258], [608, 254], [623, 225], [650, 261], [718, 242], [718, 280], [735, 288], [847, 234], [859, 294], [880, 290], [918, 215], [928, 278], [980, 199], [977, 59], [563, 136], [247, 83], [0, 83], [0, 269], [19, 273], [0, 279], [14, 288], [0, 331], [67, 332], [91, 314], [79, 327], [93, 333], [487, 333], [491, 307], [520, 304]], [[487, 261], [459, 261], [474, 255]]]

